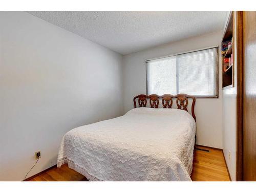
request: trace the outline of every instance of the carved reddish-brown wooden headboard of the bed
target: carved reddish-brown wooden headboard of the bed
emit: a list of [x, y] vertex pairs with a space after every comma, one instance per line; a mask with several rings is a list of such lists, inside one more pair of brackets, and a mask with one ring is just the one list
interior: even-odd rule
[[138, 101], [139, 107], [146, 107], [147, 99], [150, 101], [150, 107], [151, 108], [158, 108], [159, 106], [159, 99], [162, 99], [162, 106], [163, 108], [172, 108], [173, 105], [173, 99], [176, 99], [177, 109], [179, 110], [187, 110], [188, 106], [188, 99], [192, 99], [192, 105], [191, 105], [191, 115], [196, 121], [196, 115], [195, 115], [195, 103], [196, 98], [194, 96], [186, 95], [186, 94], [178, 94], [178, 95], [170, 95], [170, 94], [164, 94], [164, 95], [138, 95], [134, 97], [134, 108], [137, 108], [136, 101]]

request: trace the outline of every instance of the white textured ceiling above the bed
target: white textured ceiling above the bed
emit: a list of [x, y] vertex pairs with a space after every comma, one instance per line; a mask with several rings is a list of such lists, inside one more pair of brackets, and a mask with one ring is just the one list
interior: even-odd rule
[[120, 54], [221, 30], [225, 11], [29, 11]]

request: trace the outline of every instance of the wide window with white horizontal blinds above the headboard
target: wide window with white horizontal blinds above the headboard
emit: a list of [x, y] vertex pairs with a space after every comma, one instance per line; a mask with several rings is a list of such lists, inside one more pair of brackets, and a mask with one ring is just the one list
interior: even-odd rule
[[218, 47], [147, 60], [147, 94], [218, 97], [218, 63]]

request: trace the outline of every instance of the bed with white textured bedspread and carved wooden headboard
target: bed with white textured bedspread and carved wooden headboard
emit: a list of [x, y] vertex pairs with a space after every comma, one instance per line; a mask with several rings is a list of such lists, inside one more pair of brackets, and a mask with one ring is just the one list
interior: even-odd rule
[[66, 133], [57, 167], [68, 163], [91, 181], [191, 181], [195, 102], [185, 94], [138, 95], [125, 115]]

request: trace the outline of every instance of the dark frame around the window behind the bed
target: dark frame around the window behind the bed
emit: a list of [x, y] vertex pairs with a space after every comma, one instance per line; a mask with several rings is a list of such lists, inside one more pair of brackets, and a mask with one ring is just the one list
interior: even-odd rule
[[[208, 47], [208, 48], [203, 48], [203, 49], [198, 49], [198, 50], [193, 50], [193, 51], [187, 51], [187, 52], [182, 52], [182, 53], [177, 53], [177, 54], [173, 54], [173, 55], [167, 55], [167, 56], [163, 56], [163, 57], [156, 57], [156, 58], [152, 58], [152, 59], [146, 59], [144, 62], [145, 62], [145, 66], [146, 66], [146, 94], [148, 95], [148, 72], [147, 72], [147, 62], [148, 61], [150, 61], [150, 60], [156, 60], [156, 59], [162, 59], [162, 58], [167, 58], [167, 57], [172, 57], [172, 56], [178, 56], [178, 55], [182, 55], [182, 54], [186, 54], [186, 53], [192, 53], [192, 52], [197, 52], [197, 51], [203, 51], [203, 50], [207, 50], [207, 49], [213, 49], [213, 48], [217, 48], [218, 49], [218, 51], [217, 51], [217, 53], [218, 53], [218, 65], [217, 65], [217, 68], [215, 68], [215, 69], [217, 69], [217, 73], [216, 73], [216, 75], [217, 75], [217, 96], [198, 96], [198, 95], [192, 95], [192, 96], [194, 96], [195, 98], [202, 98], [202, 99], [206, 99], [206, 98], [208, 98], [208, 99], [218, 99], [219, 98], [219, 63], [220, 63], [220, 49], [219, 49], [219, 46], [212, 46], [212, 47]], [[177, 64], [176, 64], [177, 65]], [[176, 70], [178, 70], [178, 67], [176, 66]], [[177, 77], [176, 77], [176, 79], [177, 79]], [[178, 84], [179, 82], [178, 82], [178, 79], [177, 79], [177, 82], [176, 82], [176, 84]], [[176, 85], [176, 89], [177, 89], [177, 94], [179, 94], [178, 93], [178, 86]], [[166, 93], [166, 94], [169, 94], [169, 93]]]

